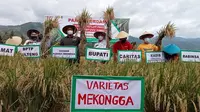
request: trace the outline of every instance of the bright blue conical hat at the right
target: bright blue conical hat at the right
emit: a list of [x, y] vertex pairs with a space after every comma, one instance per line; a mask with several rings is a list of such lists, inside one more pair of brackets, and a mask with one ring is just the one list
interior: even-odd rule
[[163, 51], [169, 55], [179, 54], [181, 49], [175, 44], [169, 44], [164, 47]]

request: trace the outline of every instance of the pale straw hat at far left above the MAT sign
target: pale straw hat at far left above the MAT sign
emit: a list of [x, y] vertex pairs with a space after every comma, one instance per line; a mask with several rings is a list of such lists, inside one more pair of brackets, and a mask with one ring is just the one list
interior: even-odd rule
[[20, 45], [21, 43], [22, 43], [22, 38], [18, 36], [13, 36], [12, 38], [6, 40], [6, 44]]

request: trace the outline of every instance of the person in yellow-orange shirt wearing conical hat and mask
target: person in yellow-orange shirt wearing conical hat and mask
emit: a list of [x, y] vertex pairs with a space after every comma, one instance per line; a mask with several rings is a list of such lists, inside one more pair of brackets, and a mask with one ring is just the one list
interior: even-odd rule
[[138, 46], [137, 50], [142, 51], [142, 60], [143, 61], [145, 60], [145, 52], [159, 51], [161, 49], [160, 46], [156, 46], [156, 45], [150, 43], [150, 39], [153, 36], [154, 35], [152, 33], [145, 31], [144, 34], [142, 34], [139, 37], [140, 40], [143, 40], [143, 43]]

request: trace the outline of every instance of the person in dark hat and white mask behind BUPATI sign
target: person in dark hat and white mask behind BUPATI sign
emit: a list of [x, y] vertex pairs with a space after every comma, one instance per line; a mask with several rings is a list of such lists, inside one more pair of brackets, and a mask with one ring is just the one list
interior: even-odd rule
[[105, 32], [95, 32], [94, 37], [98, 39], [98, 42], [94, 44], [94, 48], [106, 48], [106, 33]]

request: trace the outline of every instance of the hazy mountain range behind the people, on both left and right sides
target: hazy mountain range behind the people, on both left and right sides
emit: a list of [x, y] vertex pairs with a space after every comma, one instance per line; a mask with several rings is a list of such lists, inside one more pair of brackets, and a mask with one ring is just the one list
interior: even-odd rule
[[[17, 36], [23, 36], [24, 39], [28, 39], [26, 32], [29, 29], [37, 29], [40, 32], [42, 32], [42, 23], [40, 22], [28, 22], [22, 25], [16, 25], [16, 26], [5, 26], [0, 25], [0, 36], [2, 40], [5, 42], [7, 38], [9, 38], [12, 35]], [[139, 40], [137, 37], [129, 36], [128, 40], [130, 42], [136, 42], [137, 45], [142, 43], [141, 40]], [[152, 43], [155, 43], [156, 38], [152, 39]], [[187, 49], [187, 50], [198, 50], [200, 49], [200, 38], [183, 38], [183, 37], [175, 37], [173, 39], [164, 38], [163, 39], [163, 46], [166, 46], [168, 44], [176, 44], [181, 49]]]

